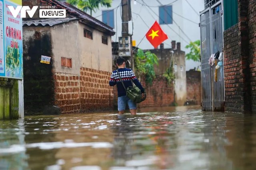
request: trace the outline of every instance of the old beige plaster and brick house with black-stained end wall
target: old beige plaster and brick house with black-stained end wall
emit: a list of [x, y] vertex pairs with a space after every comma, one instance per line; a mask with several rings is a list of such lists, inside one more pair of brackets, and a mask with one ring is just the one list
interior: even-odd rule
[[[112, 27], [66, 2], [24, 0], [23, 5], [66, 9], [66, 18], [39, 19], [35, 14], [23, 21], [25, 110], [112, 108]], [[40, 63], [41, 56], [51, 57], [50, 64]]]

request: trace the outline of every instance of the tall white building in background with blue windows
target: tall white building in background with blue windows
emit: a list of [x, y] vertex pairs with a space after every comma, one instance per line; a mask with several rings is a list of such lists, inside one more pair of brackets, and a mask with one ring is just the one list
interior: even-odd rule
[[[121, 0], [112, 0], [112, 7], [101, 7], [92, 16], [110, 25], [116, 31], [112, 41], [116, 42], [116, 36], [122, 33], [122, 20], [120, 15]], [[189, 53], [186, 45], [190, 41], [200, 39], [200, 16], [199, 12], [204, 10], [204, 0], [131, 0], [132, 21], [129, 21], [129, 33], [132, 40], [140, 42], [154, 21], [158, 21], [163, 31], [168, 35], [164, 42], [166, 48], [171, 48], [171, 41], [181, 43], [181, 50]], [[133, 27], [132, 27], [133, 22]], [[144, 38], [139, 45], [140, 49], [154, 49]], [[186, 70], [200, 66], [199, 62], [186, 61]]]

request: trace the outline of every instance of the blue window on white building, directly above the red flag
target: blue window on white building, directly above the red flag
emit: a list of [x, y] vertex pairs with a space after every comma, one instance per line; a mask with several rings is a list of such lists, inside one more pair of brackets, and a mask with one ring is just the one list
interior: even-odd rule
[[172, 6], [159, 7], [159, 23], [172, 24]]

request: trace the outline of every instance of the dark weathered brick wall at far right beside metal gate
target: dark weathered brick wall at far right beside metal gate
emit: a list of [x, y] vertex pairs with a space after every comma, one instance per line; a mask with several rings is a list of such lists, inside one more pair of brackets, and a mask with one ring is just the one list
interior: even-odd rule
[[224, 31], [225, 107], [256, 113], [256, 1], [238, 0], [238, 24]]

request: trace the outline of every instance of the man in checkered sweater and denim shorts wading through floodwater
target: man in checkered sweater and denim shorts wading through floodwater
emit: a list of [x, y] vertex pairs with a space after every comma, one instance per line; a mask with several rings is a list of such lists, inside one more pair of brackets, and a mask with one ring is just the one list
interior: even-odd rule
[[144, 88], [142, 87], [142, 85], [140, 84], [138, 79], [136, 78], [134, 72], [131, 69], [126, 68], [125, 60], [123, 57], [118, 57], [116, 59], [116, 65], [118, 66], [118, 72], [120, 73], [120, 76], [124, 82], [125, 88], [122, 85], [122, 82], [121, 82], [118, 72], [116, 72], [116, 70], [114, 72], [112, 72], [112, 75], [111, 75], [111, 78], [109, 81], [109, 85], [117, 86], [119, 114], [120, 115], [124, 114], [126, 104], [128, 104], [131, 114], [136, 115], [137, 105], [134, 102], [132, 102], [132, 100], [130, 100], [130, 98], [128, 98], [128, 96], [126, 96], [126, 89], [129, 86], [133, 86], [132, 85], [132, 81], [133, 81], [134, 84], [138, 88], [140, 88], [140, 90], [142, 92], [142, 98], [144, 98]]

